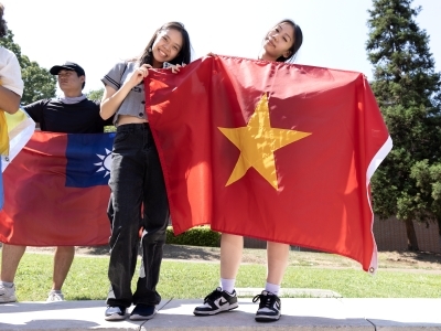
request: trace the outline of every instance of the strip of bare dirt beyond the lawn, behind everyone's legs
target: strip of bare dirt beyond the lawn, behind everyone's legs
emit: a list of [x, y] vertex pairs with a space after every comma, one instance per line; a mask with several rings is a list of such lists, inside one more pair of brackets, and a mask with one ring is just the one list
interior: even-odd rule
[[[28, 252], [53, 253], [53, 247], [28, 247]], [[108, 246], [76, 248], [76, 254], [87, 256], [109, 256]], [[181, 246], [165, 245], [164, 259], [173, 260], [191, 260], [204, 263], [218, 263], [220, 249], [218, 247], [198, 247], [198, 246]], [[267, 263], [266, 249], [245, 248], [243, 254], [244, 264], [262, 264]], [[291, 266], [308, 266], [318, 268], [356, 268], [361, 265], [347, 257], [318, 253], [318, 252], [299, 252], [291, 250], [289, 264]], [[430, 271], [441, 274], [441, 254], [429, 252], [379, 252], [378, 253], [379, 269], [402, 269], [407, 271]]]

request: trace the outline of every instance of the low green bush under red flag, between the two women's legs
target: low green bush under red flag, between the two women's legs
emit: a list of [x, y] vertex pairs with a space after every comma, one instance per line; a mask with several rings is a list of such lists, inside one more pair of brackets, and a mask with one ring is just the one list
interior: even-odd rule
[[175, 236], [173, 227], [169, 226], [166, 228], [165, 243], [173, 245], [219, 247], [220, 234], [212, 231], [209, 226], [197, 226]]

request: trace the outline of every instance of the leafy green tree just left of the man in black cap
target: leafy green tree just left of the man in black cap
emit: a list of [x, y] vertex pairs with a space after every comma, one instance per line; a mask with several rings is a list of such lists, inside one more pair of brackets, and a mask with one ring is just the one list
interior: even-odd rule
[[52, 98], [55, 96], [56, 78], [50, 72], [41, 67], [36, 62], [30, 61], [26, 55], [21, 54], [21, 49], [13, 42], [13, 33], [0, 39], [0, 45], [13, 52], [21, 66], [21, 75], [24, 82], [24, 92], [21, 104], [28, 105], [33, 102]]

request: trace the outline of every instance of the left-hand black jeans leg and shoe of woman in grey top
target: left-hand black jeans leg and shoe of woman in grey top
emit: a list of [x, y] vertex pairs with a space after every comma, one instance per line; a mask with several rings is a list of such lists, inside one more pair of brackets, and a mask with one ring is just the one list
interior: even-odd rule
[[[105, 319], [122, 320], [132, 303], [131, 279], [137, 265], [144, 167], [142, 162], [142, 125], [119, 126], [114, 140], [111, 189], [110, 259]], [[109, 211], [108, 211], [109, 213]]]

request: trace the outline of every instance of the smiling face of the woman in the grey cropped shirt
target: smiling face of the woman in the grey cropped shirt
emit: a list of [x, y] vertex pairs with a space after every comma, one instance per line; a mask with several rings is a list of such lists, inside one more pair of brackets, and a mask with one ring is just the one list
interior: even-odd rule
[[170, 62], [176, 57], [182, 45], [183, 38], [180, 31], [174, 29], [160, 31], [152, 45], [153, 67], [162, 67], [164, 62]]

